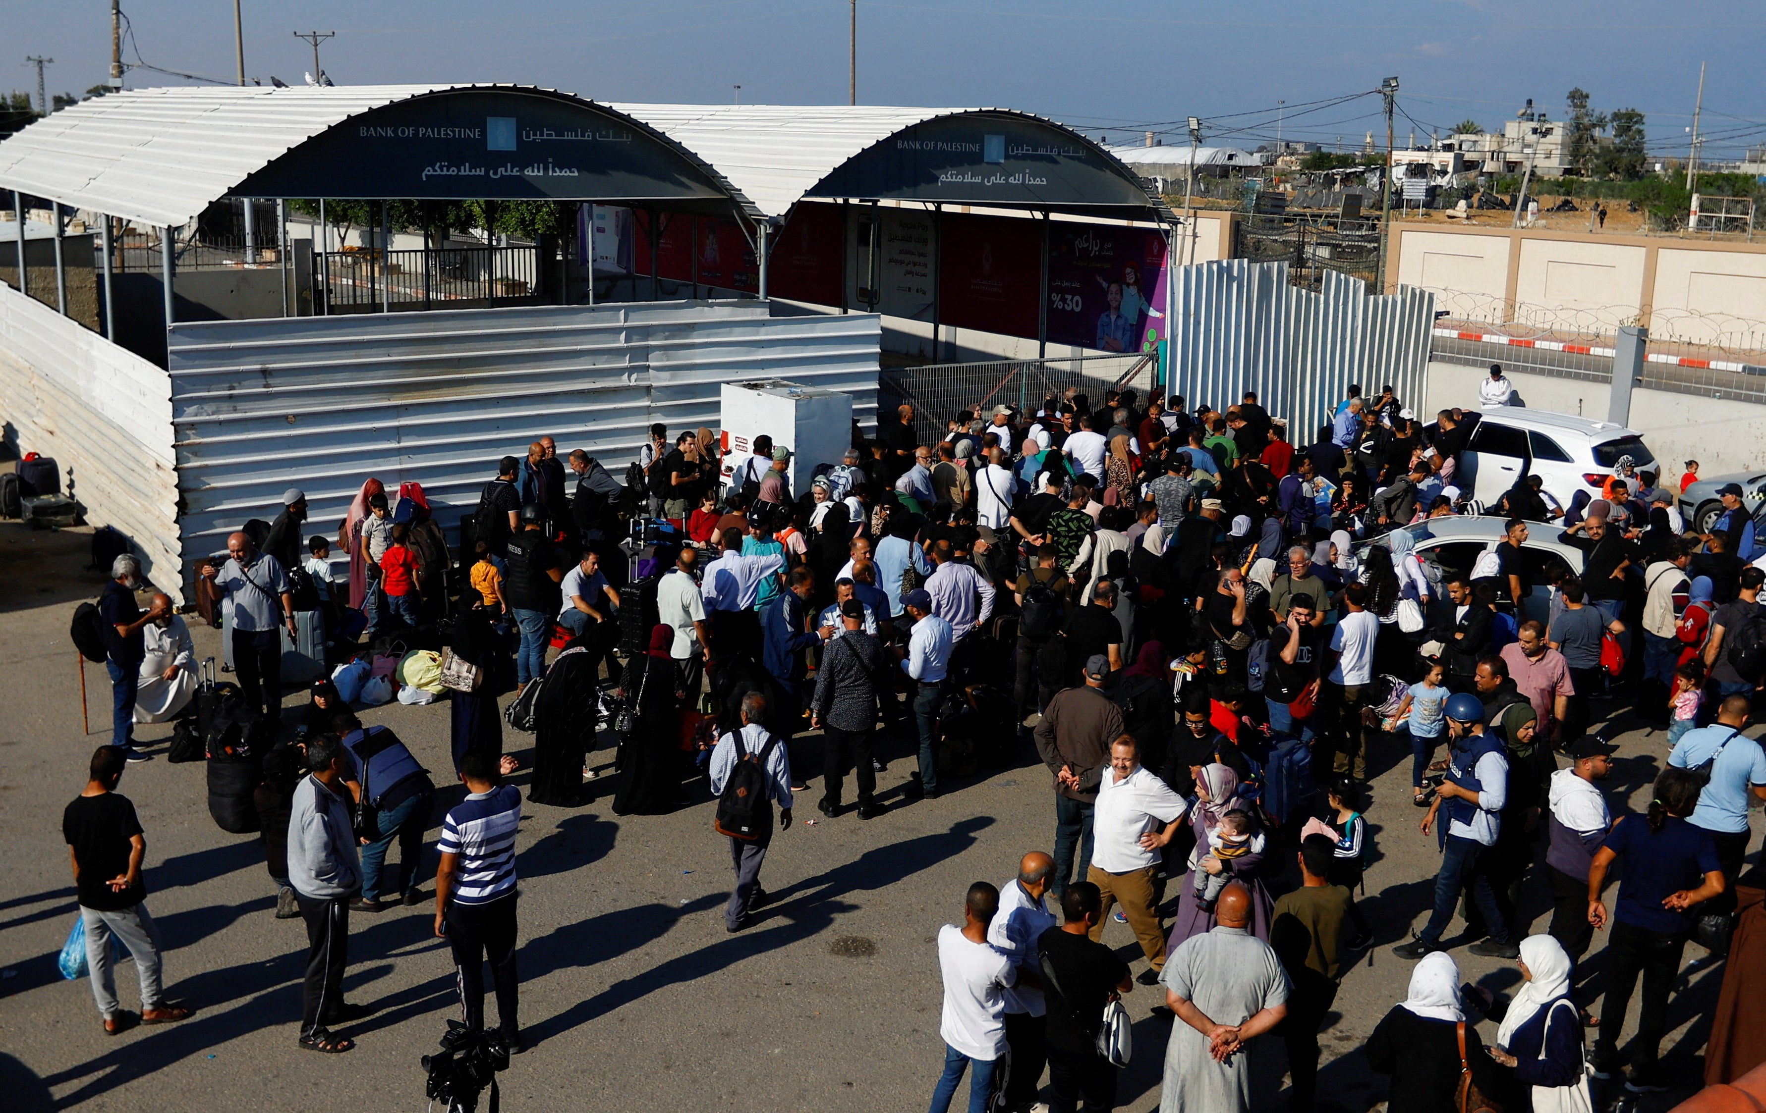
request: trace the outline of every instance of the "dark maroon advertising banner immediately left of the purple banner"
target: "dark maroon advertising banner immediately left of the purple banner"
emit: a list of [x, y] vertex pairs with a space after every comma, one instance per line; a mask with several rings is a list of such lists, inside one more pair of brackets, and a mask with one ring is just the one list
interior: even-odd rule
[[1042, 229], [1035, 220], [945, 213], [940, 325], [1037, 339]]

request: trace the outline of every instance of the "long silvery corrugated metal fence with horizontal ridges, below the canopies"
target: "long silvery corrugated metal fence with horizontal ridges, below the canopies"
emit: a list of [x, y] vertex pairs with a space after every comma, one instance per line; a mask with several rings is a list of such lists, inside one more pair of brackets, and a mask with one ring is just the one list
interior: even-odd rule
[[[542, 436], [616, 476], [653, 422], [719, 427], [724, 383], [791, 379], [876, 415], [879, 319], [770, 317], [761, 303], [535, 305], [175, 325], [171, 422], [184, 557], [224, 547], [300, 487], [336, 536], [367, 476], [424, 485], [452, 527]], [[622, 476], [623, 478], [623, 476]]]

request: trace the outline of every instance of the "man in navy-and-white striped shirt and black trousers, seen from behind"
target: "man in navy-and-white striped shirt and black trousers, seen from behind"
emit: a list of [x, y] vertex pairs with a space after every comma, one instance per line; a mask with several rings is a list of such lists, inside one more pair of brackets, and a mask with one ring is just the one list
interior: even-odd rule
[[436, 937], [454, 945], [466, 1027], [484, 1028], [484, 967], [491, 961], [496, 1016], [510, 1055], [521, 1053], [516, 1025], [516, 829], [521, 790], [503, 785], [512, 757], [473, 750], [461, 762], [466, 799], [442, 820], [436, 870]]

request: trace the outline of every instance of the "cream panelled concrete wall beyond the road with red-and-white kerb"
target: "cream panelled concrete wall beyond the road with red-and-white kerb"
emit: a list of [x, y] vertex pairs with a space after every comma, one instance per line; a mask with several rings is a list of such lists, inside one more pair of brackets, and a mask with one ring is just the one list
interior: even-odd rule
[[1766, 347], [1766, 243], [1543, 228], [1392, 228], [1386, 289], [1436, 295], [1469, 321]]

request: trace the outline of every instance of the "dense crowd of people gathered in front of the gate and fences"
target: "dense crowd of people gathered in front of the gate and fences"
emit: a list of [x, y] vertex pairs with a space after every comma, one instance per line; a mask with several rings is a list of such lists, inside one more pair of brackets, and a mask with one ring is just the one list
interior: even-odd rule
[[[240, 686], [272, 723], [284, 628], [293, 640], [316, 624], [332, 656], [389, 637], [445, 646], [470, 794], [443, 824], [436, 931], [473, 1027], [489, 961], [510, 1050], [525, 806], [579, 806], [602, 776], [618, 778], [620, 815], [717, 797], [735, 933], [770, 901], [770, 840], [816, 776], [823, 817], [874, 820], [1033, 750], [1049, 771], [1049, 850], [1003, 887], [975, 884], [964, 926], [938, 937], [947, 1053], [932, 1113], [966, 1071], [971, 1111], [996, 1092], [1028, 1109], [1045, 1065], [1053, 1109], [1113, 1108], [1104, 1035], [1136, 984], [1162, 986], [1173, 1021], [1164, 1109], [1249, 1108], [1257, 1048], [1275, 1037], [1291, 1108], [1310, 1109], [1319, 1027], [1374, 937], [1355, 896], [1372, 861], [1369, 780], [1408, 751], [1441, 866], [1425, 926], [1393, 949], [1416, 961], [1409, 995], [1367, 1044], [1392, 1076], [1388, 1108], [1455, 1108], [1462, 1057], [1506, 1108], [1528, 1094], [1575, 1108], [1549, 1102], [1626, 1062], [1630, 1090], [1665, 1085], [1657, 1044], [1685, 944], [1734, 923], [1738, 893], [1759, 908], [1741, 870], [1766, 751], [1740, 730], [1766, 679], [1766, 571], [1747, 563], [1759, 554], [1740, 489], [1695, 533], [1678, 492], [1628, 457], [1600, 497], [1556, 499], [1522, 474], [1473, 504], [1455, 478], [1476, 420], [1441, 411], [1425, 425], [1392, 388], [1355, 386], [1310, 443], [1254, 393], [1222, 413], [1067, 390], [1035, 413], [975, 406], [941, 429], [901, 406], [872, 437], [855, 423], [851, 450], [816, 462], [800, 492], [793, 453], [766, 436], [724, 457], [708, 429], [657, 425], [618, 476], [581, 450], [560, 460], [544, 437], [496, 464], [457, 561], [420, 487], [389, 504], [369, 480], [339, 527], [348, 577], [332, 579], [327, 538], [302, 556], [300, 490], [265, 538], [233, 534], [205, 577], [231, 607]], [[1466, 513], [1505, 522], [1471, 568], [1416, 552], [1415, 524]], [[1522, 554], [1529, 531], [1579, 550], [1581, 568], [1540, 571]], [[192, 654], [170, 601], [138, 609], [132, 557], [115, 573], [102, 617], [117, 727], [101, 755], [134, 760], [131, 723], [143, 706], [177, 713], [154, 684], [177, 702]], [[1535, 580], [1549, 584], [1543, 621], [1526, 609]], [[1598, 785], [1612, 746], [1591, 728], [1593, 704], [1611, 720], [1621, 690], [1635, 720], [1671, 734], [1649, 813], [1614, 820]], [[535, 732], [526, 794], [502, 783], [516, 767], [500, 714], [510, 693]], [[436, 788], [330, 683], [295, 718], [263, 760], [267, 859], [279, 914], [302, 915], [311, 940], [302, 1046], [346, 1051], [332, 1027], [351, 1016], [348, 917], [422, 900]], [[613, 769], [593, 758], [602, 728], [618, 732]], [[94, 758], [94, 785], [117, 760]], [[899, 794], [878, 788], [892, 760], [911, 764]], [[120, 836], [113, 818], [106, 838]], [[394, 841], [403, 878], [385, 864]], [[1551, 928], [1524, 937], [1543, 887]], [[1445, 951], [1462, 903], [1469, 951], [1519, 963], [1513, 1000], [1460, 991]], [[1100, 944], [1109, 923], [1132, 930], [1139, 974]], [[150, 931], [145, 908], [131, 930]], [[1596, 930], [1611, 940], [1605, 1005], [1584, 1050]], [[109, 1023], [115, 993], [92, 968]], [[1641, 1028], [1621, 1048], [1639, 974]], [[1501, 1023], [1489, 1051], [1468, 1027], [1478, 1016]], [[1720, 1030], [1734, 1044], [1711, 1060], [1724, 1071], [1766, 1058], [1747, 1025]]]

